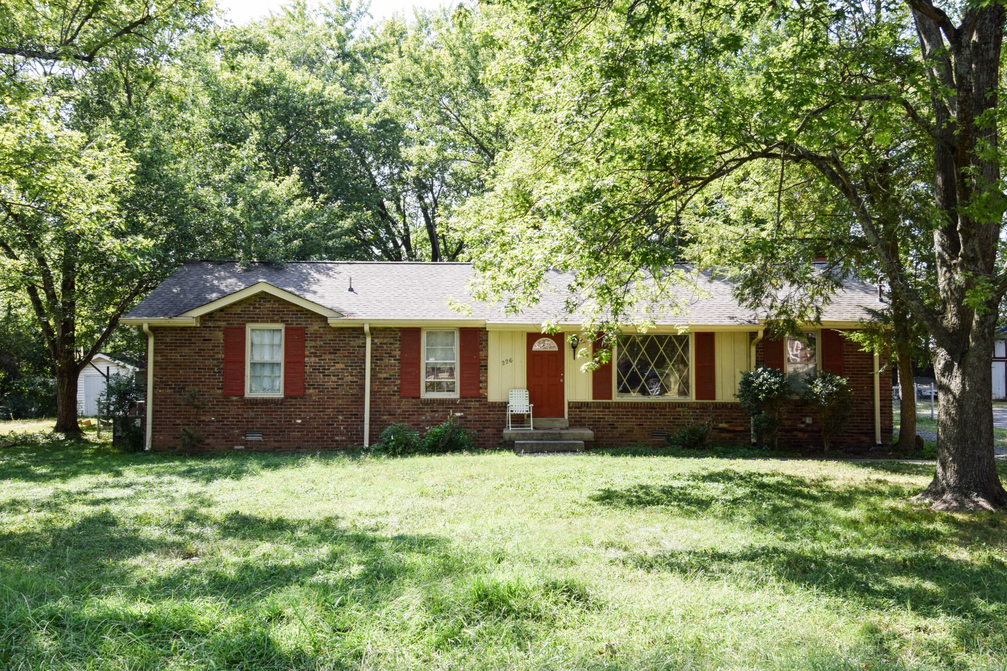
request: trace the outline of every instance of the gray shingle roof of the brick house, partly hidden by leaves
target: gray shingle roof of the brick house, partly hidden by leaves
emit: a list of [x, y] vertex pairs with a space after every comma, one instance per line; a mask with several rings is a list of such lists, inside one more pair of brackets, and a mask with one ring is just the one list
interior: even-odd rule
[[[425, 264], [391, 262], [296, 262], [285, 266], [236, 262], [189, 262], [152, 291], [126, 317], [158, 319], [177, 317], [258, 282], [295, 294], [354, 320], [462, 320], [492, 323], [540, 324], [547, 320], [576, 322], [565, 316], [564, 276], [556, 273], [542, 301], [520, 315], [505, 315], [496, 306], [471, 301], [468, 281], [470, 264]], [[353, 291], [347, 291], [352, 280]], [[738, 305], [728, 282], [700, 278], [697, 294], [683, 288], [686, 304], [682, 314], [658, 315], [665, 324], [738, 325], [756, 324], [758, 315]], [[470, 315], [452, 309], [449, 302], [465, 303]], [[823, 321], [859, 321], [867, 308], [877, 308], [876, 289], [858, 282], [847, 283], [826, 306]]]

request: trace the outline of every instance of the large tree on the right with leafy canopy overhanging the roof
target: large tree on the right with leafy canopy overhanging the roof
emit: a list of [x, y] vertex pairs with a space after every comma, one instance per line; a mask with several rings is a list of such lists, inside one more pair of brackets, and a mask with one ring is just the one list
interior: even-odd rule
[[[937, 473], [920, 497], [938, 509], [1007, 505], [993, 457], [990, 379], [1007, 292], [998, 143], [1003, 5], [517, 6], [524, 20], [502, 60], [536, 83], [513, 97], [523, 148], [500, 166], [494, 192], [468, 209], [473, 236], [490, 245], [486, 292], [534, 298], [545, 268], [601, 267], [600, 286], [582, 286], [598, 306], [611, 305], [639, 278], [663, 277], [676, 258], [667, 240], [683, 228], [690, 236], [692, 210], [708, 225], [716, 220], [716, 210], [702, 206], [722, 202], [725, 180], [775, 172], [777, 187], [761, 195], [778, 202], [772, 194], [800, 173], [812, 196], [810, 230], [834, 230], [831, 213], [841, 209], [851, 236], [932, 341], [941, 441]], [[912, 230], [930, 240], [932, 292], [891, 245], [905, 232], [892, 213], [907, 209], [901, 198], [912, 181], [894, 202], [877, 197], [876, 159], [893, 143], [928, 166], [930, 214]], [[725, 234], [740, 230], [730, 220], [720, 225]], [[783, 254], [777, 259], [777, 268], [787, 266]], [[816, 274], [798, 261], [777, 277], [801, 280], [804, 299], [827, 300], [842, 274]], [[514, 273], [523, 278], [517, 286]], [[624, 318], [624, 307], [616, 304], [615, 314]]]

